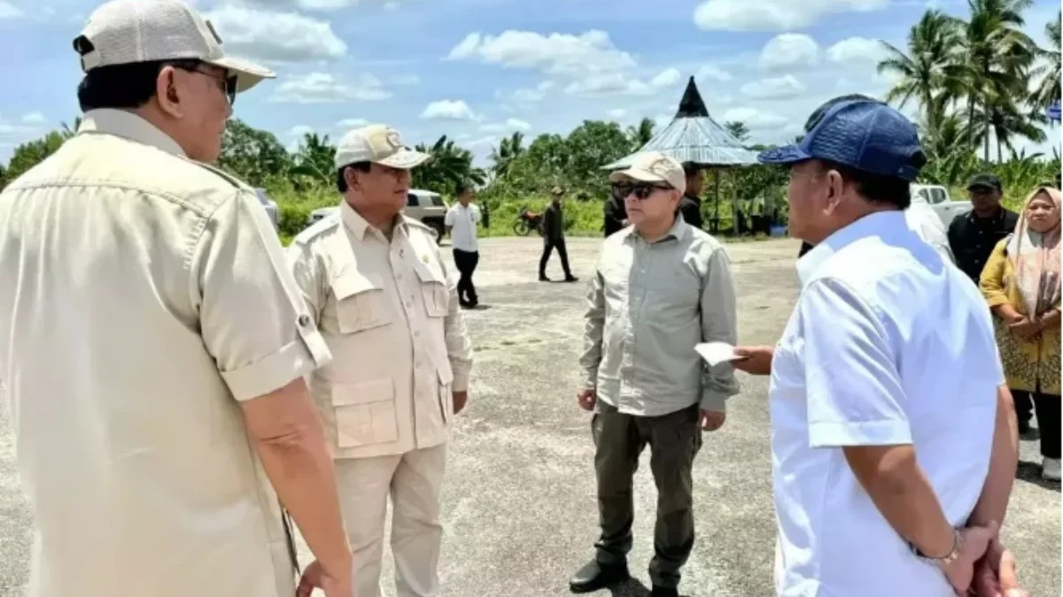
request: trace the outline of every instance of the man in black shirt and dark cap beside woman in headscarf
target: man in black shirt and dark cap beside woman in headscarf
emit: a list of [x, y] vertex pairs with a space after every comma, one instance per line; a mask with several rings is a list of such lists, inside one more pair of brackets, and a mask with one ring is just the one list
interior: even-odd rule
[[[1018, 214], [1000, 205], [1003, 185], [993, 174], [976, 174], [967, 183], [971, 211], [957, 216], [948, 226], [948, 245], [956, 265], [975, 285], [982, 276], [993, 248], [1010, 235], [1018, 224]], [[1033, 403], [1029, 395], [1013, 393], [1019, 434], [1029, 437], [1033, 420]]]

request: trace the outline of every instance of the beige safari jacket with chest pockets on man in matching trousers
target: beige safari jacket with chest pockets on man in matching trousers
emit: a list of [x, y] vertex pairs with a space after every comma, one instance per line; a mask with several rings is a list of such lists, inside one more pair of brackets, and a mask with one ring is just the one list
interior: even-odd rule
[[334, 457], [445, 442], [453, 392], [469, 387], [472, 344], [431, 229], [400, 217], [389, 240], [344, 201], [288, 252], [333, 354], [309, 386]]

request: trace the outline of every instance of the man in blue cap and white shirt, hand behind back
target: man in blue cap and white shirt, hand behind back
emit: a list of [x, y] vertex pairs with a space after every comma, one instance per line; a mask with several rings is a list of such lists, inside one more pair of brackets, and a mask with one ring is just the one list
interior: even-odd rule
[[836, 100], [760, 160], [790, 168], [790, 231], [813, 245], [782, 338], [735, 363], [772, 376], [778, 595], [1014, 589], [996, 529], [1015, 413], [984, 301], [905, 220], [915, 126]]

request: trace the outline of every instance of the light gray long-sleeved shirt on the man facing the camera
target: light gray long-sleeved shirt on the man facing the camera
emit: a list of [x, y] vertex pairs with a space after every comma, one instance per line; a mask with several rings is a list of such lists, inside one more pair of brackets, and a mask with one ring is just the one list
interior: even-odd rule
[[707, 233], [676, 218], [653, 243], [634, 227], [610, 236], [587, 305], [583, 385], [620, 412], [659, 416], [697, 403], [724, 411], [738, 393], [729, 363], [709, 368], [694, 352], [738, 335], [727, 254]]

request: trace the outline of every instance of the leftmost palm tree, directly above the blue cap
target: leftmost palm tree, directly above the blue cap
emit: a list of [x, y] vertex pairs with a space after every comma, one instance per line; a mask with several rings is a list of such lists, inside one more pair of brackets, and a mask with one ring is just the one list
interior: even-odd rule
[[908, 53], [881, 41], [887, 56], [878, 63], [879, 73], [891, 73], [899, 80], [885, 95], [885, 101], [904, 106], [915, 99], [923, 106], [929, 136], [937, 134], [938, 121], [944, 113], [944, 96], [949, 76], [948, 66], [955, 61], [960, 35], [957, 22], [941, 11], [927, 11], [908, 32]]

